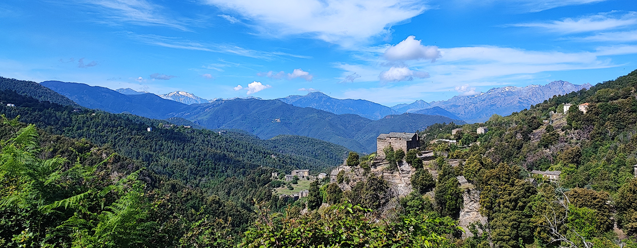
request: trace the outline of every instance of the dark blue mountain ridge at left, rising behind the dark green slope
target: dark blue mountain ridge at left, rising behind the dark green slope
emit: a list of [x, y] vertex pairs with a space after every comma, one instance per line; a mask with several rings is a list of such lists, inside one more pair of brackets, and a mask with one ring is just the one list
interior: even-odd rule
[[101, 109], [116, 114], [126, 112], [148, 118], [164, 119], [169, 113], [188, 106], [154, 94], [124, 95], [112, 89], [76, 82], [45, 81], [40, 84], [66, 96], [82, 107]]

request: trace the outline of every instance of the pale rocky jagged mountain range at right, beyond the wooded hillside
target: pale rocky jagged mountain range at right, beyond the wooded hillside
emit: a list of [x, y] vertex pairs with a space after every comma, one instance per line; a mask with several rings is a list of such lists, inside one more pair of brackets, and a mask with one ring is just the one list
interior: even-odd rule
[[554, 95], [565, 95], [591, 86], [590, 84], [576, 85], [566, 81], [553, 81], [544, 86], [506, 86], [492, 88], [480, 95], [454, 96], [449, 100], [432, 101], [430, 104], [433, 107], [444, 108], [466, 122], [484, 122], [493, 114], [510, 115], [548, 100]]

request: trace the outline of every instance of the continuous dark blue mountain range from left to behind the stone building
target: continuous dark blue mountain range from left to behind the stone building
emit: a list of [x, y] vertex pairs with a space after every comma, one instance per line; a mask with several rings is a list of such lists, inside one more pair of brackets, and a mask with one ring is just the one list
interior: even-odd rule
[[464, 124], [449, 117], [424, 114], [386, 115], [371, 120], [356, 114], [296, 107], [281, 100], [235, 98], [187, 105], [154, 94], [124, 95], [74, 82], [45, 81], [41, 85], [87, 108], [154, 119], [178, 117], [208, 129], [241, 129], [262, 139], [280, 134], [307, 136], [365, 153], [376, 149], [376, 136], [380, 133], [414, 132], [435, 123]]

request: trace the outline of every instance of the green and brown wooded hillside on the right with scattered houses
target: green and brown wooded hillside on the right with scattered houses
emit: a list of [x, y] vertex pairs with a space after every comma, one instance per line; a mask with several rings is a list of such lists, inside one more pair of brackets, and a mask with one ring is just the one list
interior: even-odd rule
[[[466, 159], [455, 173], [480, 190], [480, 212], [489, 223], [482, 235], [462, 245], [636, 247], [636, 89], [637, 70], [507, 117], [494, 115], [483, 124], [422, 131], [424, 140], [452, 138], [471, 145], [421, 147]], [[573, 106], [561, 114], [564, 103]], [[585, 114], [578, 110], [582, 103], [589, 103]], [[476, 134], [480, 126], [489, 131]], [[464, 130], [452, 136], [457, 127]], [[529, 174], [533, 169], [561, 171], [559, 182]], [[531, 185], [529, 177], [540, 184]], [[619, 231], [613, 231], [615, 222]]]

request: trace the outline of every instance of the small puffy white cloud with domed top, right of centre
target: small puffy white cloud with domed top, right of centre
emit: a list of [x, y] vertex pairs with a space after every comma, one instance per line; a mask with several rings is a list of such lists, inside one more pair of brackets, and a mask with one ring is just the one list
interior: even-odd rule
[[396, 60], [431, 60], [436, 61], [440, 58], [440, 51], [437, 46], [423, 46], [415, 36], [409, 36], [407, 39], [391, 46], [385, 50], [383, 56], [390, 61]]

